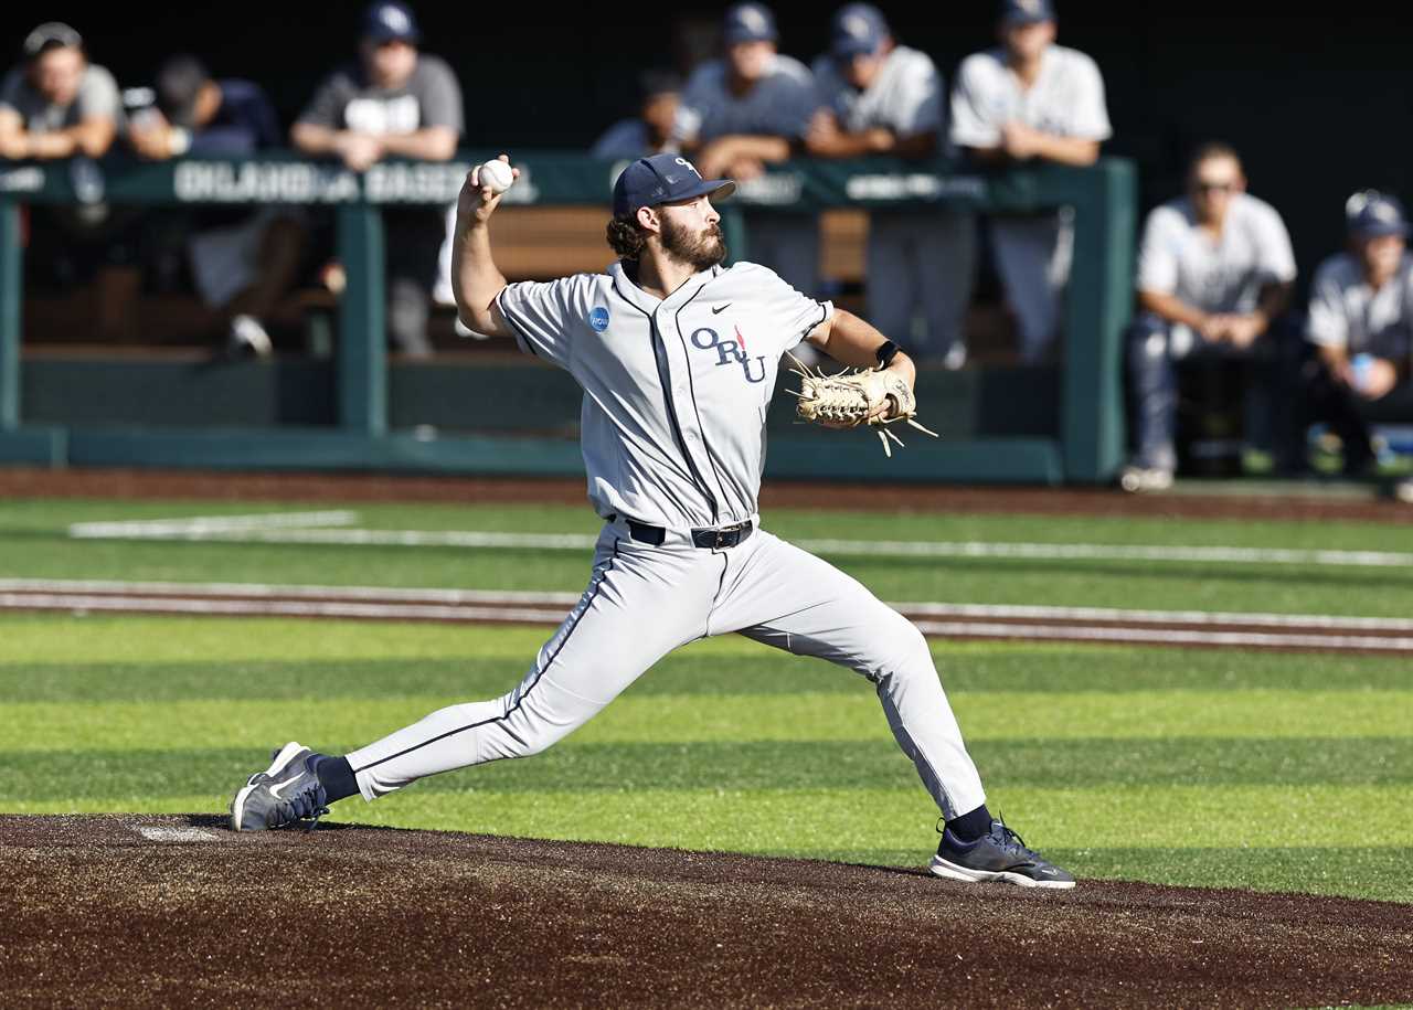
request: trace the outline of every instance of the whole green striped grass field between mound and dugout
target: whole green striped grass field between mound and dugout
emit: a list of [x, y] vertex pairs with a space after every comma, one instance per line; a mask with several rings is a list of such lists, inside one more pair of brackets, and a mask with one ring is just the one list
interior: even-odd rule
[[[328, 506], [319, 506], [326, 509]], [[586, 551], [81, 541], [81, 521], [309, 506], [0, 503], [0, 578], [572, 590]], [[596, 531], [588, 509], [355, 507], [370, 530]], [[1406, 527], [786, 511], [791, 538], [1405, 549]], [[1413, 569], [831, 558], [892, 600], [1407, 616]], [[507, 691], [547, 634], [0, 613], [0, 811], [218, 811], [268, 747], [365, 743]], [[1399, 658], [933, 643], [992, 809], [1081, 877], [1413, 901]], [[661, 661], [551, 751], [339, 819], [918, 865], [935, 811], [872, 689], [738, 637]]]

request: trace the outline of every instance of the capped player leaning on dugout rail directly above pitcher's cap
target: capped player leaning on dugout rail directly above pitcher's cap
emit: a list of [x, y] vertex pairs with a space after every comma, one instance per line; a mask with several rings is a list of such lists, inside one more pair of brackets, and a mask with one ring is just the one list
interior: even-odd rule
[[[803, 148], [820, 100], [808, 68], [776, 51], [779, 38], [769, 7], [739, 3], [722, 27], [725, 59], [702, 64], [688, 79], [673, 141], [692, 155], [704, 178], [747, 182], [763, 175], [767, 162]], [[752, 209], [746, 233], [752, 260], [797, 291], [818, 292], [818, 218]]]

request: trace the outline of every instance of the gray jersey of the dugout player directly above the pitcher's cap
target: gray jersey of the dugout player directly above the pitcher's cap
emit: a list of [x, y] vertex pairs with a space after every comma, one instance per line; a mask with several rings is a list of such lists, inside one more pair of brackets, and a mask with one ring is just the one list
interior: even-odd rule
[[728, 134], [797, 138], [820, 107], [814, 75], [798, 59], [776, 55], [770, 71], [745, 95], [732, 95], [726, 65], [714, 59], [698, 66], [682, 89], [673, 123], [678, 144]]

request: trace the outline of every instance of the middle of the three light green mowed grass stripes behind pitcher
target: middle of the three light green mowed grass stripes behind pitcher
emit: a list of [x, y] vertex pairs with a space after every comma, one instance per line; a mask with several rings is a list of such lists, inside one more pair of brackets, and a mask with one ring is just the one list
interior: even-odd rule
[[[270, 746], [295, 737], [367, 742], [445, 706], [444, 696], [6, 705], [0, 750], [185, 750]], [[1121, 695], [954, 694], [968, 740], [1087, 737], [1342, 739], [1413, 735], [1413, 691], [1137, 691]], [[872, 740], [882, 706], [853, 695], [653, 695], [619, 698], [579, 729], [582, 743]]]

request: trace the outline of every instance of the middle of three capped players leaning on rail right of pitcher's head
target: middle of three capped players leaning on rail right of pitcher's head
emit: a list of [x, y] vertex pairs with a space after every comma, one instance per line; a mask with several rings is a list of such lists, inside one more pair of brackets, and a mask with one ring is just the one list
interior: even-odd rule
[[[805, 147], [820, 158], [927, 158], [945, 138], [945, 95], [931, 58], [897, 45], [883, 14], [851, 3], [834, 17], [829, 52], [814, 61], [824, 107]], [[868, 295], [873, 325], [914, 359], [966, 360], [962, 321], [975, 267], [971, 215], [918, 208], [869, 215]], [[913, 338], [921, 315], [927, 336]]]

